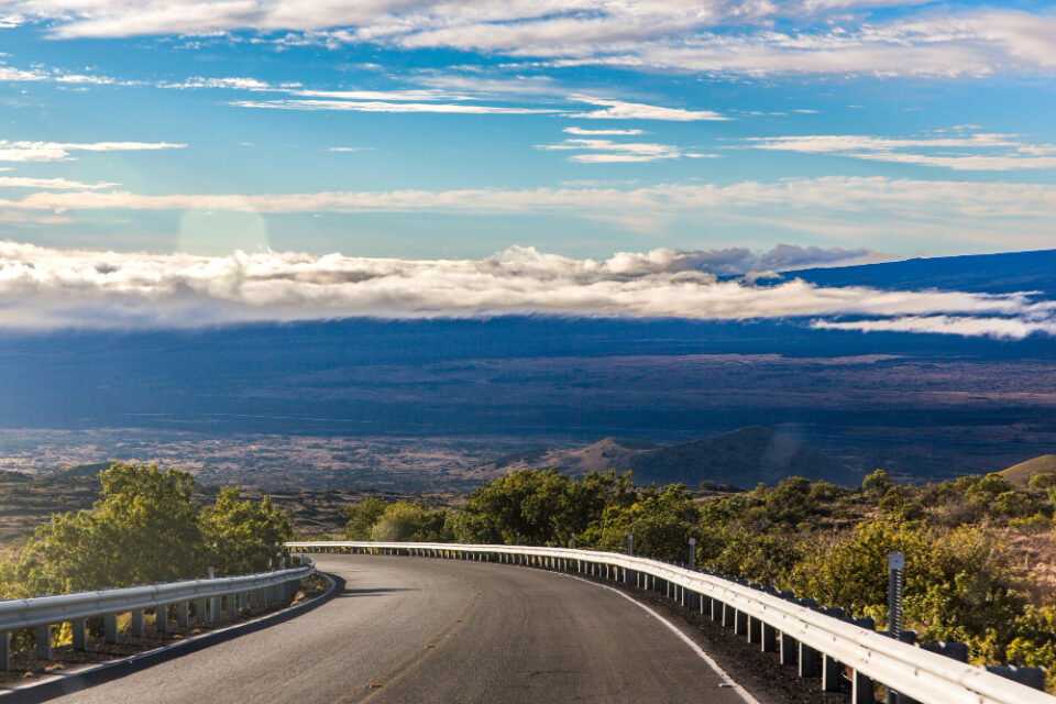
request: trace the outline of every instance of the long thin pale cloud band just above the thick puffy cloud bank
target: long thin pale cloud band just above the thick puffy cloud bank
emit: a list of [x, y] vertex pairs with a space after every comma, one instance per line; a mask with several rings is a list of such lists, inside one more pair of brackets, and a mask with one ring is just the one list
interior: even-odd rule
[[[584, 186], [587, 186], [584, 184]], [[707, 223], [716, 237], [746, 227], [833, 241], [882, 242], [926, 231], [934, 243], [986, 249], [1052, 246], [1056, 186], [1002, 182], [823, 177], [729, 185], [690, 183], [622, 187], [164, 194], [125, 190], [37, 191], [0, 198], [0, 212], [81, 210], [230, 210], [268, 213], [557, 215], [615, 222], [660, 234], [669, 223]], [[711, 235], [710, 235], [711, 237]]]

